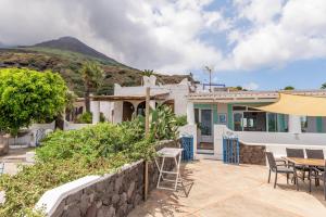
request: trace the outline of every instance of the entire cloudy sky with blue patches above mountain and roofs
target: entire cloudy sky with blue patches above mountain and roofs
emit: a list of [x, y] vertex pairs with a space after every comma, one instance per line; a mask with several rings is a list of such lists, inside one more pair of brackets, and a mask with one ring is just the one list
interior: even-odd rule
[[251, 90], [326, 82], [325, 0], [0, 0], [0, 43], [73, 36], [139, 69]]

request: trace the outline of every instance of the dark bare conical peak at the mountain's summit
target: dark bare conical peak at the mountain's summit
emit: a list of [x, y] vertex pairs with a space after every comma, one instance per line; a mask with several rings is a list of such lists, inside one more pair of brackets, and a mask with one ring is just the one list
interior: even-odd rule
[[55, 40], [49, 40], [40, 43], [36, 43], [32, 46], [30, 48], [49, 48], [49, 49], [59, 49], [59, 50], [65, 50], [76, 53], [82, 53], [84, 55], [88, 55], [91, 58], [100, 59], [103, 61], [109, 61], [112, 63], [117, 63], [115, 60], [108, 58], [103, 53], [100, 53], [99, 51], [90, 48], [89, 46], [83, 43], [78, 39], [74, 37], [62, 37]]

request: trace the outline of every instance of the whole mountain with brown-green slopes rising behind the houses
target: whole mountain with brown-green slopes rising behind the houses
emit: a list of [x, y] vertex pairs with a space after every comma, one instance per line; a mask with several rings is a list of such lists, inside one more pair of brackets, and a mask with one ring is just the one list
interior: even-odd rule
[[[102, 86], [97, 94], [112, 94], [114, 84], [122, 86], [141, 84], [141, 71], [124, 65], [72, 37], [28, 47], [0, 48], [0, 68], [27, 67], [60, 73], [68, 88], [79, 97], [83, 97], [85, 91], [80, 69], [86, 61], [97, 62], [104, 72]], [[188, 75], [156, 74], [156, 76], [160, 82], [165, 84], [176, 84], [185, 77], [192, 79]]]

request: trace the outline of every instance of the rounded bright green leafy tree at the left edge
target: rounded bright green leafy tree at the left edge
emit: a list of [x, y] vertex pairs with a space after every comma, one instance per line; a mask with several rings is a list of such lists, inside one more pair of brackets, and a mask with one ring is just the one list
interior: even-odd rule
[[0, 128], [16, 136], [32, 123], [52, 122], [66, 103], [66, 85], [59, 74], [0, 69]]

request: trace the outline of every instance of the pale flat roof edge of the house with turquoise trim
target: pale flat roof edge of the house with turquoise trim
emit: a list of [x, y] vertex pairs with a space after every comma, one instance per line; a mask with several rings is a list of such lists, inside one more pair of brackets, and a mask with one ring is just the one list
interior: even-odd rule
[[[326, 98], [326, 90], [291, 90], [281, 92]], [[216, 91], [190, 93], [187, 95], [187, 99], [192, 102], [276, 102], [278, 97], [278, 91]]]

